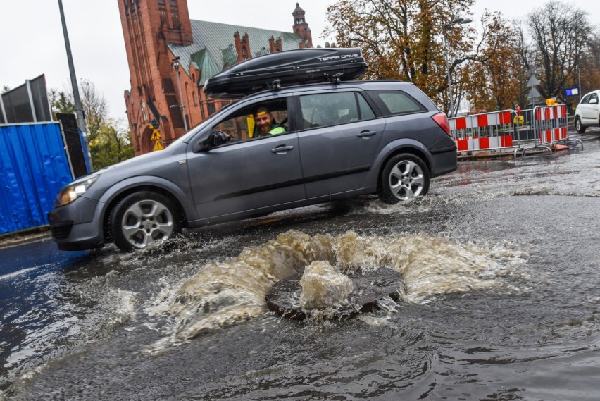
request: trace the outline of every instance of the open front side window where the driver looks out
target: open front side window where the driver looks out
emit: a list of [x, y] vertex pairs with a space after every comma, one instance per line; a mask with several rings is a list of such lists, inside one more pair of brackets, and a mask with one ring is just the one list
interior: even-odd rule
[[[276, 130], [277, 134], [288, 131], [289, 123], [287, 119], [287, 99], [270, 99], [269, 101], [259, 101], [234, 113], [230, 113], [217, 124], [213, 125], [212, 132], [223, 131], [231, 135], [236, 141], [256, 139], [266, 135], [261, 135], [256, 127], [254, 115], [260, 109], [259, 113], [268, 111], [272, 127], [281, 127]], [[275, 131], [274, 131], [275, 132]]]

